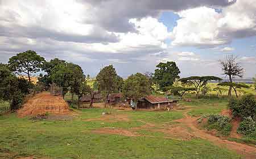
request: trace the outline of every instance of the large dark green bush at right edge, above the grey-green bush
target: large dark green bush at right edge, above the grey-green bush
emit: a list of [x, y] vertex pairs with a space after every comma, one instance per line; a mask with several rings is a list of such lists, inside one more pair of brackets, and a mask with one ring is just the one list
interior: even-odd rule
[[233, 117], [256, 119], [256, 100], [254, 95], [245, 95], [241, 99], [230, 99], [228, 104]]

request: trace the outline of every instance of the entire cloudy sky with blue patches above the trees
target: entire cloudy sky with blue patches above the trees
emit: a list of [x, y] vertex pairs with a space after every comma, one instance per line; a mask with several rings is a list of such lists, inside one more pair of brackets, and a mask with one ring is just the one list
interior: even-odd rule
[[27, 50], [121, 77], [175, 61], [180, 77], [222, 75], [234, 55], [256, 74], [256, 0], [0, 0], [0, 62]]

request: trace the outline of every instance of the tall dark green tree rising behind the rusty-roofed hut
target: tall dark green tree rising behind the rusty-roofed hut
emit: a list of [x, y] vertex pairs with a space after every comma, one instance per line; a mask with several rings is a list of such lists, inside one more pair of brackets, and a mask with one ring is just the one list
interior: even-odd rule
[[180, 70], [175, 62], [160, 62], [156, 67], [158, 69], [155, 70], [153, 79], [159, 84], [160, 89], [163, 91], [165, 91], [165, 87], [172, 86], [176, 78], [180, 78]]

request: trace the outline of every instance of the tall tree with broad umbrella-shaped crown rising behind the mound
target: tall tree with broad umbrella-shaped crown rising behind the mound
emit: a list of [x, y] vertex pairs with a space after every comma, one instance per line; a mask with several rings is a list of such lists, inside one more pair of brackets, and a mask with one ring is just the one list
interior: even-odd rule
[[25, 73], [30, 82], [31, 73], [39, 72], [43, 67], [44, 58], [37, 55], [35, 51], [18, 53], [9, 59], [9, 67], [15, 73]]

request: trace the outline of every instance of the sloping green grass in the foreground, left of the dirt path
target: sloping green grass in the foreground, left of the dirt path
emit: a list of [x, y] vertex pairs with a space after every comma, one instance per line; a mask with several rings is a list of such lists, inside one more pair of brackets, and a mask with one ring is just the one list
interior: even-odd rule
[[[0, 116], [0, 158], [11, 158], [13, 154], [49, 158], [240, 158], [201, 139], [164, 139], [161, 133], [151, 133], [155, 137], [128, 137], [91, 132], [103, 127], [141, 127], [143, 122], [160, 125], [183, 118], [181, 111], [114, 111], [127, 114], [130, 120], [104, 124], [85, 121], [100, 117], [104, 111], [79, 110], [78, 118], [69, 121], [20, 119], [15, 114]], [[147, 134], [146, 129], [140, 131]]]

